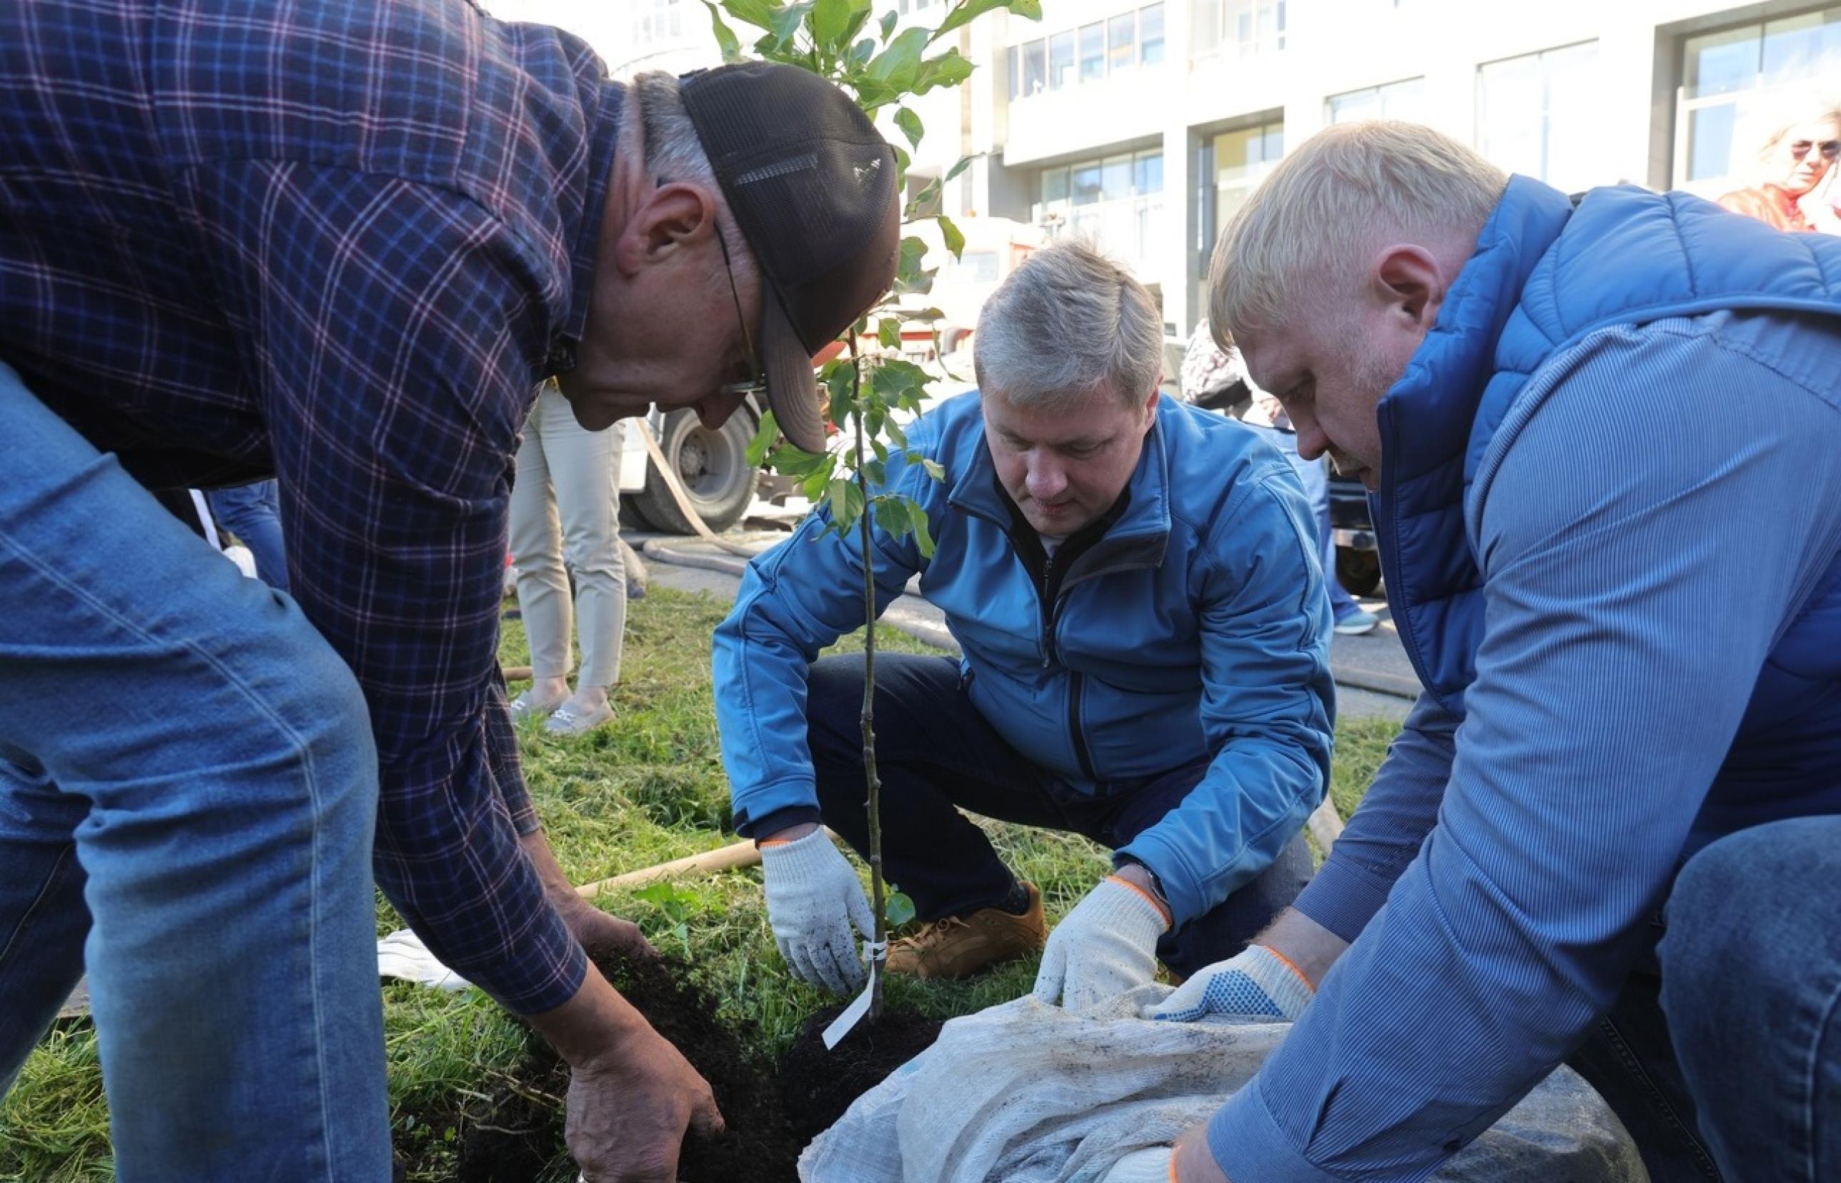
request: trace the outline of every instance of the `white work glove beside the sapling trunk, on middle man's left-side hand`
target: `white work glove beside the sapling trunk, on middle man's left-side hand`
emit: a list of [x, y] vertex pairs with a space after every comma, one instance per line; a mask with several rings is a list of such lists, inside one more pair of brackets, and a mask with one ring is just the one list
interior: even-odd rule
[[768, 924], [786, 968], [803, 982], [849, 993], [863, 981], [863, 959], [851, 925], [876, 931], [863, 883], [825, 830], [760, 848], [768, 879]]

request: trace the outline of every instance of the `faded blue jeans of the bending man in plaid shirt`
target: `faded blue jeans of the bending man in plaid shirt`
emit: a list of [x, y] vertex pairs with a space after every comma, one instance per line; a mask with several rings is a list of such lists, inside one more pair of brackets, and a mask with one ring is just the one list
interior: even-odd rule
[[0, 1089], [88, 968], [120, 1179], [388, 1179], [357, 681], [4, 364], [0, 440]]

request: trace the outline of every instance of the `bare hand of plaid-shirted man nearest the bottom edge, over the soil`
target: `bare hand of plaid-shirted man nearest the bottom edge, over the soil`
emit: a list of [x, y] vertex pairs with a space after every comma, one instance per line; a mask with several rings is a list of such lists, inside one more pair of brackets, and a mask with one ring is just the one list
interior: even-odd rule
[[685, 1130], [722, 1133], [709, 1082], [650, 1027], [569, 1078], [569, 1154], [589, 1183], [676, 1183]]

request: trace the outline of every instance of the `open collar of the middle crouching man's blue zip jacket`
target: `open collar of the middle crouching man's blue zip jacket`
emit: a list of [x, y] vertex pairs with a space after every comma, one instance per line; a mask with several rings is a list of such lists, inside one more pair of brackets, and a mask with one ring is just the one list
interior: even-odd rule
[[[978, 397], [972, 392], [968, 397]], [[1140, 567], [1158, 567], [1169, 546], [1169, 447], [1165, 440], [1165, 418], [1180, 408], [1173, 408], [1169, 397], [1158, 399], [1151, 431], [1145, 432], [1143, 451], [1138, 454], [1138, 467], [1127, 482], [1130, 500], [1119, 521], [1106, 530], [1106, 535], [1075, 559], [1068, 569], [1062, 587], [1092, 580], [1094, 576]], [[978, 429], [970, 434], [968, 454], [965, 456], [959, 478], [954, 482], [946, 500], [955, 510], [976, 513], [996, 523], [1005, 534], [1011, 530], [1011, 511], [1003, 504], [998, 484], [998, 467], [990, 460], [990, 445], [985, 442], [983, 408], [978, 414]]]

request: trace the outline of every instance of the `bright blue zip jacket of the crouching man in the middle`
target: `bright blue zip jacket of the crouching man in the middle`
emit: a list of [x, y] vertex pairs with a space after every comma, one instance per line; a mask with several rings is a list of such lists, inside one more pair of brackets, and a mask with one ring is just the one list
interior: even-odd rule
[[[963, 648], [972, 703], [998, 734], [1075, 789], [1213, 760], [1202, 782], [1119, 857], [1149, 867], [1176, 922], [1270, 865], [1324, 798], [1333, 684], [1329, 600], [1291, 464], [1239, 423], [1162, 399], [1123, 513], [1044, 603], [1018, 557], [978, 394], [908, 429], [935, 460], [889, 458], [935, 550], [876, 528], [876, 613], [920, 574]], [[722, 758], [736, 830], [817, 808], [806, 668], [863, 626], [858, 537], [817, 510], [747, 565], [716, 629]]]

